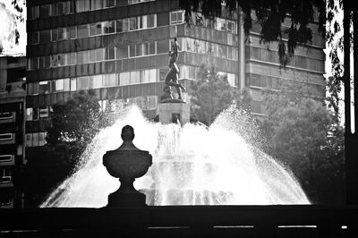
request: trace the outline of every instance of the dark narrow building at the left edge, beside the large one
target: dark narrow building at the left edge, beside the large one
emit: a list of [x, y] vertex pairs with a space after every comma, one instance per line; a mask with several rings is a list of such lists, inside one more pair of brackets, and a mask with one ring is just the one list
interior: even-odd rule
[[25, 163], [25, 74], [24, 56], [0, 57], [0, 208], [22, 207], [14, 171]]

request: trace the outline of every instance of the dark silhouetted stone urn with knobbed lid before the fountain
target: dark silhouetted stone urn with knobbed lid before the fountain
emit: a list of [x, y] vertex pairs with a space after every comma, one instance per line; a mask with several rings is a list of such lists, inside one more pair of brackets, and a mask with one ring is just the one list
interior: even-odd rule
[[152, 157], [146, 150], [136, 148], [132, 140], [134, 130], [125, 125], [121, 134], [123, 144], [115, 150], [109, 150], [103, 156], [103, 165], [109, 174], [119, 178], [121, 186], [108, 196], [107, 207], [145, 206], [145, 195], [136, 191], [133, 183], [148, 172], [152, 165]]

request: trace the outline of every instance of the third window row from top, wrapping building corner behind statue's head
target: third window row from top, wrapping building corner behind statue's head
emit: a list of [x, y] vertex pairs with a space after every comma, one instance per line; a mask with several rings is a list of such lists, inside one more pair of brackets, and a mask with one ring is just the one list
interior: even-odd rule
[[[237, 59], [237, 49], [194, 38], [178, 38], [183, 51]], [[148, 41], [138, 44], [105, 47], [73, 53], [45, 55], [28, 59], [28, 70], [47, 69], [74, 64], [89, 64], [106, 60], [124, 59], [145, 55], [163, 54], [169, 51], [169, 40]]]

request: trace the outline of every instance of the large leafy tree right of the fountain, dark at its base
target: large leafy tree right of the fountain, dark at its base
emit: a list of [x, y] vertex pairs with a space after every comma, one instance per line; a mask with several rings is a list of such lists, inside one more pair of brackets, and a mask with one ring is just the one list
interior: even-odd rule
[[336, 115], [303, 82], [282, 82], [280, 90], [264, 92], [268, 117], [261, 127], [270, 154], [293, 171], [313, 202], [342, 203], [344, 137]]

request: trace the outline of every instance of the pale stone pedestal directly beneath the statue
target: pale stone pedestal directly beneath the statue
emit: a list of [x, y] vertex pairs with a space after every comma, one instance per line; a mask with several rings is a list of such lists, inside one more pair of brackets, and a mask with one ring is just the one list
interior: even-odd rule
[[176, 123], [178, 120], [183, 126], [190, 122], [190, 106], [183, 100], [166, 99], [158, 103], [160, 123]]

